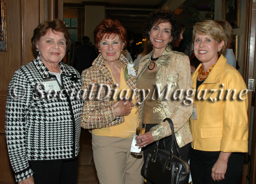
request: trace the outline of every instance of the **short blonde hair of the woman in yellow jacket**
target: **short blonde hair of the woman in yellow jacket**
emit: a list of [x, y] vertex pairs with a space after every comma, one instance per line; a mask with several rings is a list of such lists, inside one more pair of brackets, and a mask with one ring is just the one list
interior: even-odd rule
[[201, 34], [201, 35], [206, 35], [209, 36], [211, 38], [213, 38], [214, 40], [216, 40], [218, 43], [222, 42], [222, 40], [224, 41], [224, 45], [222, 47], [222, 49], [220, 50], [219, 55], [221, 53], [223, 53], [223, 51], [225, 50], [227, 43], [227, 37], [225, 35], [225, 32], [222, 28], [222, 26], [220, 24], [218, 24], [217, 22], [213, 21], [213, 20], [206, 20], [204, 22], [197, 22], [194, 26], [193, 26], [193, 42], [195, 41], [195, 34]]

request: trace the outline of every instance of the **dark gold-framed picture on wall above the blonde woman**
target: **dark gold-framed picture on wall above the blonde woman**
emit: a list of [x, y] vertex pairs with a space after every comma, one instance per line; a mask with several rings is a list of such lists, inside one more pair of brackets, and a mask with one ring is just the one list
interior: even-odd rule
[[222, 0], [222, 19], [232, 28], [240, 27], [240, 0]]

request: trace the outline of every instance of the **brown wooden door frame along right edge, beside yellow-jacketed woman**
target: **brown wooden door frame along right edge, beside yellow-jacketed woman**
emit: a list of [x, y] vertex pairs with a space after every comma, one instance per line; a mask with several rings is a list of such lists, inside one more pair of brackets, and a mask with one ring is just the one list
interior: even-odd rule
[[[244, 46], [244, 70], [243, 77], [244, 81], [248, 86], [250, 79], [254, 79], [254, 55], [255, 55], [255, 35], [256, 34], [256, 0], [247, 0], [246, 4], [246, 30], [245, 30], [245, 46]], [[255, 83], [254, 83], [255, 84]], [[254, 86], [255, 88], [255, 86]], [[248, 100], [248, 119], [249, 119], [249, 128], [250, 128], [250, 119], [251, 119], [251, 104], [252, 104], [252, 93], [249, 91]], [[255, 98], [256, 99], [256, 98]], [[256, 101], [254, 102], [254, 119], [253, 119], [253, 131], [251, 134], [252, 145], [251, 145], [251, 159], [248, 159], [248, 154], [245, 157], [245, 163], [249, 164], [249, 173], [248, 169], [244, 167], [244, 174], [242, 176], [242, 184], [246, 184], [246, 177], [249, 177], [249, 183], [256, 183]], [[248, 176], [246, 176], [246, 174]]]

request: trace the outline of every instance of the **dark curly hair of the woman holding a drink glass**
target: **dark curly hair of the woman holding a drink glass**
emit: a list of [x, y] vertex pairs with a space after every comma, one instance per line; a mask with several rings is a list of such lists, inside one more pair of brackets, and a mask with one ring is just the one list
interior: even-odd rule
[[169, 10], [158, 9], [154, 12], [151, 12], [146, 19], [145, 27], [144, 27], [144, 34], [147, 38], [149, 38], [149, 31], [151, 30], [152, 26], [155, 24], [161, 24], [165, 22], [171, 23], [171, 36], [173, 37], [171, 43], [174, 43], [177, 39], [179, 39], [180, 29], [179, 29], [179, 21], [176, 18], [176, 15], [173, 14]]

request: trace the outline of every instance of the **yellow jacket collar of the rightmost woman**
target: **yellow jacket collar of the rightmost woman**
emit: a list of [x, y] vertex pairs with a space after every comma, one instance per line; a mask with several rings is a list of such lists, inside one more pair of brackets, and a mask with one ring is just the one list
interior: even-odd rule
[[[214, 84], [219, 82], [221, 80], [221, 76], [224, 71], [226, 61], [227, 59], [223, 55], [220, 55], [220, 58], [217, 60], [215, 66], [213, 67], [207, 79], [205, 79], [205, 81], [203, 82], [203, 84]], [[195, 71], [198, 71], [201, 66], [202, 66], [202, 63], [200, 63], [200, 65], [196, 68]], [[198, 72], [194, 72], [192, 75], [192, 81], [197, 80], [197, 77], [198, 77]]]

